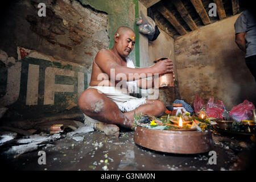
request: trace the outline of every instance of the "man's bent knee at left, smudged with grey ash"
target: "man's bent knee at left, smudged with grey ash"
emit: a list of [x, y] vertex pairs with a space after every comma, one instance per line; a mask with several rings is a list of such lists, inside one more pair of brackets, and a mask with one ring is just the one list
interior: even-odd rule
[[78, 104], [85, 114], [88, 111], [92, 113], [100, 113], [102, 107], [104, 107], [104, 100], [98, 90], [86, 89], [79, 97]]

